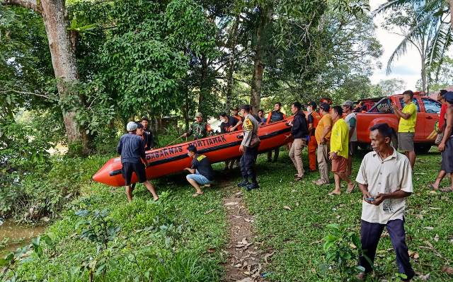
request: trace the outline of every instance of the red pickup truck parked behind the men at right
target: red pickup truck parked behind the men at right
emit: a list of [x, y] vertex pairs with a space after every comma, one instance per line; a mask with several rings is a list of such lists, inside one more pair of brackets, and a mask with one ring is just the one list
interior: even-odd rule
[[[369, 129], [374, 124], [386, 123], [398, 132], [399, 121], [391, 108], [391, 102], [394, 102], [401, 109], [404, 107], [402, 94], [380, 98], [378, 101], [376, 98], [372, 98], [369, 99], [369, 102], [374, 102], [374, 105], [367, 112], [357, 113], [357, 142], [360, 148], [365, 149], [370, 149]], [[434, 145], [437, 136], [435, 123], [439, 117], [441, 104], [423, 93], [414, 93], [413, 102], [417, 106], [415, 151], [426, 153]], [[396, 136], [394, 141], [396, 141]]]

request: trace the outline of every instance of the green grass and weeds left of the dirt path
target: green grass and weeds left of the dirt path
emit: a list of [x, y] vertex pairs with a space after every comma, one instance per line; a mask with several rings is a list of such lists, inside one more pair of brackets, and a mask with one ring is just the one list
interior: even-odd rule
[[[33, 281], [88, 281], [88, 272], [79, 275], [76, 268], [87, 258], [100, 260], [104, 256], [108, 257], [105, 281], [149, 281], [149, 277], [151, 281], [219, 281], [223, 275], [222, 248], [228, 234], [222, 190], [212, 189], [194, 199], [193, 190], [183, 180], [179, 175], [157, 181], [161, 194], [158, 204], [152, 202], [142, 185], [137, 185], [134, 201], [127, 204], [124, 188], [89, 184], [84, 187], [85, 195], [47, 229], [55, 249], [47, 246], [43, 257], [33, 255], [21, 265], [21, 277]], [[75, 215], [80, 208], [106, 208], [112, 221], [121, 227], [102, 256], [96, 254], [93, 242], [81, 240], [81, 227], [77, 226], [81, 218]], [[182, 234], [173, 236], [163, 231], [171, 225], [176, 229], [181, 226]]]

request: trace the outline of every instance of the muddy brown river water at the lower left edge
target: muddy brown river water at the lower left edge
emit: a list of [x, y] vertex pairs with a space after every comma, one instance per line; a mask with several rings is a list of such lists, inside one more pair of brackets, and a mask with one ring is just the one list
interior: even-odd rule
[[32, 238], [38, 237], [44, 231], [45, 225], [17, 225], [11, 221], [4, 221], [0, 225], [0, 258], [18, 247], [28, 245]]

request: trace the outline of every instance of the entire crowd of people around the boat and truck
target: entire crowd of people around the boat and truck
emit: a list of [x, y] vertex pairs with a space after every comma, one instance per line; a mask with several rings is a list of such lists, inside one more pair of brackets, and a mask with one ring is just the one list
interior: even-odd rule
[[[439, 94], [442, 102], [438, 137], [436, 143], [442, 153], [442, 168], [432, 189], [440, 189], [440, 182], [446, 175], [450, 175], [452, 186], [443, 189], [445, 192], [453, 192], [453, 92], [442, 90]], [[308, 102], [306, 106], [300, 102], [291, 105], [293, 119], [287, 122], [291, 127], [292, 142], [289, 144], [289, 158], [294, 164], [297, 173], [294, 181], [304, 180], [306, 171], [302, 162], [302, 151], [308, 147], [309, 172], [316, 172], [318, 165], [319, 179], [314, 181], [316, 185], [331, 183], [329, 171], [333, 172], [334, 189], [330, 195], [341, 193], [340, 182], [347, 183], [346, 192], [350, 193], [358, 187], [363, 195], [361, 241], [364, 257], [360, 258], [360, 266], [365, 271], [360, 274], [364, 278], [372, 271], [372, 262], [376, 254], [379, 238], [387, 229], [396, 253], [396, 263], [401, 274], [406, 275], [404, 281], [410, 281], [415, 275], [408, 256], [406, 235], [404, 231], [404, 209], [406, 198], [413, 192], [412, 171], [415, 165], [414, 135], [417, 121], [417, 110], [413, 102], [413, 92], [406, 90], [403, 93], [403, 108], [392, 104], [394, 114], [399, 119], [398, 125], [398, 153], [391, 145], [394, 129], [389, 124], [375, 124], [369, 129], [372, 152], [367, 153], [362, 159], [355, 182], [350, 179], [352, 175], [352, 158], [357, 153], [357, 117], [365, 105], [347, 100], [341, 105], [331, 106], [331, 100], [321, 99], [319, 105], [316, 102]], [[242, 131], [242, 141], [239, 151], [242, 153], [240, 160], [227, 160], [225, 170], [231, 170], [234, 163], [239, 163], [242, 181], [238, 186], [247, 191], [258, 189], [258, 180], [254, 165], [258, 156], [260, 139], [258, 129], [265, 124], [280, 122], [286, 119], [281, 112], [281, 103], [274, 105], [274, 110], [264, 117], [263, 110], [253, 114], [250, 105], [240, 108], [234, 107], [231, 114], [222, 112], [219, 114], [220, 133]], [[304, 111], [306, 109], [306, 112]], [[205, 138], [212, 134], [212, 129], [207, 122], [203, 121], [202, 114], [195, 115], [195, 122], [183, 136], [193, 135], [194, 139]], [[152, 135], [147, 133], [147, 119], [140, 122], [127, 124], [128, 134], [121, 137], [117, 152], [121, 154], [122, 175], [125, 178], [126, 194], [129, 201], [132, 200], [134, 186], [130, 185], [132, 172], [137, 174], [139, 182], [144, 183], [149, 192], [157, 201], [156, 191], [146, 179], [145, 165], [147, 159], [145, 149], [152, 148]], [[287, 136], [289, 138], [289, 136]], [[280, 148], [267, 152], [268, 162], [276, 162]], [[214, 183], [214, 170], [206, 155], [197, 153], [197, 148], [188, 146], [187, 154], [192, 158], [190, 168], [185, 168], [189, 174], [187, 181], [195, 188], [193, 196], [203, 194], [201, 187], [210, 187]], [[356, 184], [357, 183], [357, 184]]]

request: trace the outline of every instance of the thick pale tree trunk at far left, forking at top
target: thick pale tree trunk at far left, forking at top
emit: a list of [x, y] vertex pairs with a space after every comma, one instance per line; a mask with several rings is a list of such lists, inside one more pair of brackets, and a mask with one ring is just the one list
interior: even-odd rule
[[[69, 150], [88, 152], [88, 138], [76, 121], [75, 108], [81, 106], [81, 100], [74, 86], [79, 82], [76, 55], [69, 35], [67, 11], [64, 0], [5, 0], [5, 4], [31, 8], [40, 13], [44, 20], [47, 40], [49, 41], [52, 66], [57, 78], [59, 100], [62, 105], [64, 127], [68, 137]], [[74, 41], [74, 39], [73, 39]], [[66, 105], [71, 106], [66, 106]]]

